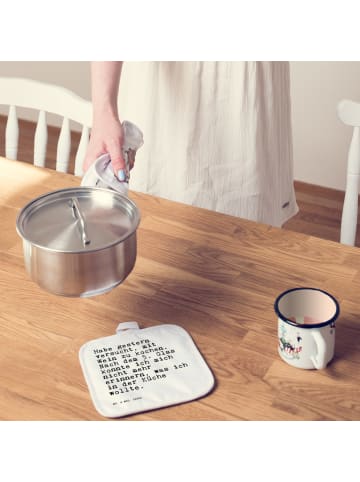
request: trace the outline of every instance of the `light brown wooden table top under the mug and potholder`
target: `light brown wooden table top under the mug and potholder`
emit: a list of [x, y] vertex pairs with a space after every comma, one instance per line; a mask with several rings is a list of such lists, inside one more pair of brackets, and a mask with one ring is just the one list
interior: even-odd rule
[[[182, 326], [216, 378], [200, 400], [129, 420], [360, 419], [359, 249], [131, 193], [142, 215], [133, 272], [108, 294], [59, 297], [29, 279], [15, 220], [30, 199], [79, 184], [0, 158], [1, 420], [104, 420], [78, 352], [127, 320]], [[325, 370], [278, 356], [273, 303], [295, 286], [340, 302], [336, 356]]]

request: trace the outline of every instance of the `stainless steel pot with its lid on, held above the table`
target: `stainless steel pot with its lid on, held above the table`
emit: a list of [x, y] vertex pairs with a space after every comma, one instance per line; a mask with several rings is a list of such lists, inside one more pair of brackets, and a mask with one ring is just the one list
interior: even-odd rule
[[20, 211], [26, 269], [38, 285], [63, 296], [106, 293], [136, 260], [140, 214], [134, 202], [109, 189], [79, 187], [40, 196]]

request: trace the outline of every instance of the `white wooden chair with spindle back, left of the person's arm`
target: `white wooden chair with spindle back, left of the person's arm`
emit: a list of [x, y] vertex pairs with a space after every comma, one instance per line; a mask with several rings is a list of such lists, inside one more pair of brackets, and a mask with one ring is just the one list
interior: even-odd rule
[[46, 112], [63, 118], [57, 144], [56, 170], [68, 172], [71, 148], [70, 120], [81, 124], [82, 133], [75, 157], [76, 176], [83, 173], [82, 164], [92, 124], [92, 104], [64, 87], [31, 79], [0, 77], [0, 104], [9, 106], [5, 132], [5, 156], [16, 159], [19, 124], [16, 107], [39, 111], [34, 137], [34, 165], [45, 166], [47, 148]]

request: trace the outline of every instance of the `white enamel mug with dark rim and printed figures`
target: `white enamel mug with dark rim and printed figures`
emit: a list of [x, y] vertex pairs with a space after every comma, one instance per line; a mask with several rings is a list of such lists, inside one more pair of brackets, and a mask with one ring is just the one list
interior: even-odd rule
[[334, 357], [337, 300], [317, 288], [293, 288], [275, 301], [278, 352], [289, 365], [322, 369]]

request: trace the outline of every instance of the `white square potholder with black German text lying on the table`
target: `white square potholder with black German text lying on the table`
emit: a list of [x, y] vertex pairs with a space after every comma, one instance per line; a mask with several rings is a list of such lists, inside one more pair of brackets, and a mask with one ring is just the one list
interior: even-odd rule
[[120, 323], [116, 335], [85, 343], [80, 364], [96, 410], [125, 415], [200, 398], [214, 377], [190, 335], [177, 325], [139, 329]]

